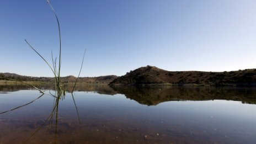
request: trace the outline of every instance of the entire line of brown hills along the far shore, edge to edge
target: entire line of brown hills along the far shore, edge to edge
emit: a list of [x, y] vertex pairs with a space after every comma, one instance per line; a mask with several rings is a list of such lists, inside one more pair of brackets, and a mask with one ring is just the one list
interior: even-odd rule
[[[28, 77], [15, 73], [0, 73], [0, 77], [19, 81], [54, 82], [50, 77]], [[1, 79], [1, 78], [0, 78]], [[76, 77], [61, 77], [61, 82], [72, 83]], [[81, 77], [79, 83], [110, 85], [178, 85], [178, 86], [256, 86], [256, 69], [230, 72], [166, 71], [154, 66], [137, 68], [124, 76]]]

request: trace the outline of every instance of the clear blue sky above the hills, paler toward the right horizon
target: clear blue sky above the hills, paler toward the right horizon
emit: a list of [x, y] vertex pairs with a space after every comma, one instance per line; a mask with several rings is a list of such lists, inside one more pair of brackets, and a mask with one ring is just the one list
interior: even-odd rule
[[[61, 76], [124, 75], [142, 66], [168, 71], [256, 68], [256, 1], [52, 0], [61, 24]], [[53, 76], [57, 23], [45, 0], [1, 1], [0, 72]]]

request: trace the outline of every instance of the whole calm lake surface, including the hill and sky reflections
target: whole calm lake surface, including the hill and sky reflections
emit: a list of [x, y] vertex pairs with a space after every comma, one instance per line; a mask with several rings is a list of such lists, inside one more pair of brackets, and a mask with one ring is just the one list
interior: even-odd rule
[[255, 88], [81, 85], [58, 105], [45, 92], [0, 87], [1, 144], [256, 143]]

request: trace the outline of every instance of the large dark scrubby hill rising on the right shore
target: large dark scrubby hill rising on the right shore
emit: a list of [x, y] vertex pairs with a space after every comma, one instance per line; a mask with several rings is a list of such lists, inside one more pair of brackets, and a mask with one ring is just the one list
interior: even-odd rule
[[166, 71], [154, 66], [137, 68], [110, 85], [175, 84], [211, 86], [256, 86], [256, 69], [230, 72]]

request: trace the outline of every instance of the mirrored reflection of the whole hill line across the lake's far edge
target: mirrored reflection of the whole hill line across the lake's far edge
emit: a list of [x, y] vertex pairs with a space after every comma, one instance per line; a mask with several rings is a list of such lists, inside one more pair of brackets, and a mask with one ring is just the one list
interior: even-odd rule
[[[37, 86], [52, 89], [52, 84]], [[67, 92], [73, 85], [66, 84]], [[0, 92], [15, 92], [31, 89], [25, 85], [0, 86]], [[256, 88], [253, 87], [173, 87], [173, 86], [108, 86], [106, 84], [77, 84], [76, 91], [99, 94], [124, 94], [126, 98], [144, 105], [157, 105], [169, 101], [234, 100], [247, 104], [256, 104]]]

